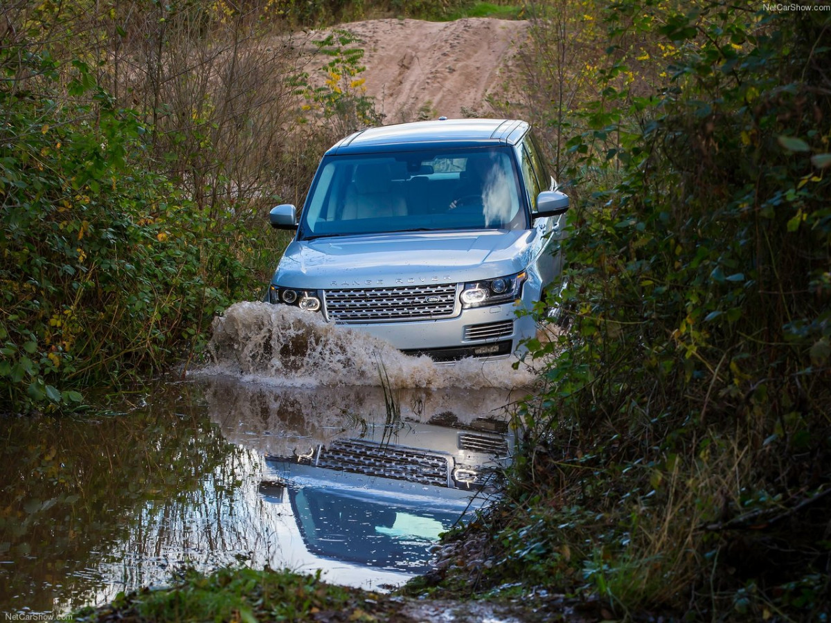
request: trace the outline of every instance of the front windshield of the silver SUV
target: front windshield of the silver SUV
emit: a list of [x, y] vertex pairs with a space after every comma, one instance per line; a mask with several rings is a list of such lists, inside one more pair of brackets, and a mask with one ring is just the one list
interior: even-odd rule
[[301, 236], [527, 228], [508, 149], [327, 156]]

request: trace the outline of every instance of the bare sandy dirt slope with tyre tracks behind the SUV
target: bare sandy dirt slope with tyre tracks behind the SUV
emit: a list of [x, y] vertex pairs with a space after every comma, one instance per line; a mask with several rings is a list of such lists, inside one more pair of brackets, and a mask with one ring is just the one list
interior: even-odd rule
[[380, 19], [341, 27], [363, 41], [366, 95], [384, 123], [487, 114], [529, 22], [469, 17], [455, 22]]

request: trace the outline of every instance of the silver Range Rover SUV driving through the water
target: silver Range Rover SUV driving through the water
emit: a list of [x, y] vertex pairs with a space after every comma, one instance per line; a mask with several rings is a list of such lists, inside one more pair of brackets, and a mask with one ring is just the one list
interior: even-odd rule
[[435, 120], [361, 130], [326, 152], [267, 300], [436, 361], [509, 356], [560, 287], [568, 197], [529, 125]]

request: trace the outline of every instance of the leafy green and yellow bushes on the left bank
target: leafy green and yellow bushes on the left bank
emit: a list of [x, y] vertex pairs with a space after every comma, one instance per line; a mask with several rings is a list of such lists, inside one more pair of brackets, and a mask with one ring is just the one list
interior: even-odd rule
[[170, 365], [247, 282], [210, 214], [145, 169], [145, 125], [86, 62], [5, 41], [0, 409], [49, 410]]

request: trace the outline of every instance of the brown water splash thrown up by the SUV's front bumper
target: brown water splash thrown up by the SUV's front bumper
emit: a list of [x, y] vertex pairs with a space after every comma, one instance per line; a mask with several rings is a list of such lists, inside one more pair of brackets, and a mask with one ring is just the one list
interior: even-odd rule
[[[386, 341], [336, 326], [317, 314], [263, 302], [239, 302], [214, 320], [213, 364], [197, 375], [232, 375], [287, 387], [381, 385], [381, 366], [392, 388], [518, 388], [534, 374], [512, 360], [467, 359], [437, 365], [406, 356]], [[386, 379], [385, 379], [386, 382]]]

